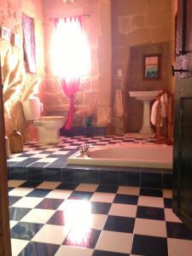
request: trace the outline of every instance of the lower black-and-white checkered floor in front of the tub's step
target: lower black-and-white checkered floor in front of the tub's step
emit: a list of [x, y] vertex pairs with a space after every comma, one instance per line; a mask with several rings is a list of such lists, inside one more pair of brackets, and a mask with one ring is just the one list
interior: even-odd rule
[[172, 191], [9, 180], [13, 256], [189, 256]]

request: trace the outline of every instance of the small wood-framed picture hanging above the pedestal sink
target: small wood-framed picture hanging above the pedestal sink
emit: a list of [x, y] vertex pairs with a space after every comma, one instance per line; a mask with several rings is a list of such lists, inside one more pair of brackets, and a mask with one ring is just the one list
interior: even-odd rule
[[143, 79], [160, 79], [161, 55], [143, 55]]

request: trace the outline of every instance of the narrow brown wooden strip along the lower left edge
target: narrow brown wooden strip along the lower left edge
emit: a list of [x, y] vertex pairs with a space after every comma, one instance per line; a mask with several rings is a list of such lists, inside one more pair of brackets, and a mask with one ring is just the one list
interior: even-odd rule
[[8, 179], [4, 137], [3, 86], [0, 69], [0, 256], [10, 256]]

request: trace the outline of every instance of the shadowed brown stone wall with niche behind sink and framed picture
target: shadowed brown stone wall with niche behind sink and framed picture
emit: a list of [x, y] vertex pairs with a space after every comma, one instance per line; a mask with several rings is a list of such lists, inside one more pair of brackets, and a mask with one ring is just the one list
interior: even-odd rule
[[[142, 125], [143, 105], [130, 100], [128, 91], [172, 86], [172, 0], [113, 0], [112, 6], [113, 81], [118, 69], [122, 69], [124, 96], [124, 114], [121, 119], [113, 115], [113, 132], [117, 131], [117, 126], [119, 133], [138, 131]], [[161, 79], [143, 81], [143, 55], [154, 53], [162, 55]], [[113, 94], [114, 88], [113, 82]]]

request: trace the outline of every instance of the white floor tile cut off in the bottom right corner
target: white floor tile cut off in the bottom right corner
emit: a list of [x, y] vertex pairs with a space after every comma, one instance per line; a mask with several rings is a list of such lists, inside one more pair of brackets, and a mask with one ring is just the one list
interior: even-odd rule
[[192, 254], [192, 241], [183, 239], [167, 239], [169, 256], [189, 256]]

